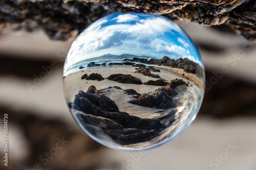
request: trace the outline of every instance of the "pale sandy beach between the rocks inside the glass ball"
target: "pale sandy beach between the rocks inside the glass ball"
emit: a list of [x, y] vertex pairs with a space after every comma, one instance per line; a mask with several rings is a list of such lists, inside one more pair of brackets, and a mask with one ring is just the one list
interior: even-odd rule
[[[152, 78], [148, 76], [144, 76], [139, 73], [135, 73], [136, 67], [133, 66], [127, 66], [127, 65], [121, 65], [121, 66], [104, 66], [104, 67], [92, 67], [89, 69], [83, 69], [78, 72], [74, 72], [70, 75], [67, 75], [63, 81], [65, 81], [65, 93], [66, 98], [68, 101], [72, 102], [74, 100], [74, 94], [76, 94], [79, 90], [87, 91], [90, 86], [95, 86], [97, 90], [103, 89], [103, 88], [109, 88], [114, 86], [119, 86], [123, 90], [125, 89], [134, 89], [138, 93], [152, 93], [157, 88], [160, 88], [162, 86], [154, 86], [154, 85], [145, 85], [145, 84], [129, 84], [129, 83], [118, 83], [116, 81], [111, 81], [106, 79], [112, 74], [126, 74], [126, 75], [132, 75], [136, 78], [141, 79], [141, 81], [147, 82], [149, 80], [158, 80], [157, 78]], [[185, 82], [188, 82], [190, 86], [194, 86], [195, 88], [199, 87], [195, 86], [196, 83], [186, 80], [182, 76], [176, 75], [173, 72], [163, 70], [162, 67], [159, 68], [161, 72], [152, 72], [152, 74], [158, 74], [161, 79], [166, 80], [166, 82], [169, 82], [170, 80], [174, 79], [183, 79]], [[81, 76], [84, 74], [90, 75], [92, 73], [98, 73], [100, 74], [104, 80], [97, 81], [97, 80], [81, 80]], [[190, 74], [187, 74], [190, 75]], [[192, 77], [192, 76], [191, 76]], [[194, 79], [193, 79], [194, 80]], [[195, 78], [195, 80], [197, 80]], [[199, 80], [198, 80], [199, 82]], [[191, 87], [189, 87], [191, 89]], [[156, 112], [162, 111], [162, 109], [158, 108], [148, 108], [143, 106], [134, 105], [131, 103], [128, 103], [128, 101], [131, 101], [134, 99], [132, 95], [127, 95], [124, 93], [123, 90], [117, 89], [117, 88], [111, 88], [108, 90], [105, 90], [106, 92], [104, 95], [108, 96], [110, 99], [115, 101], [116, 105], [118, 106], [120, 111], [127, 112], [130, 115], [136, 115], [138, 116], [138, 110], [143, 110], [143, 112], [140, 114], [141, 118], [153, 118], [157, 116]], [[193, 89], [192, 89], [193, 90]], [[197, 91], [198, 91], [197, 90]], [[121, 94], [121, 95], [120, 95]], [[153, 114], [155, 113], [155, 114]]]

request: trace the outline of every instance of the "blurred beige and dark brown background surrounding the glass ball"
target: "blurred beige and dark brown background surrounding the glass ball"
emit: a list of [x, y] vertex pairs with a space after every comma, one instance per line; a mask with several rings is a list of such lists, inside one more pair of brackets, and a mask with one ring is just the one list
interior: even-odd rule
[[[103, 9], [91, 8], [90, 11], [94, 14], [97, 11], [97, 17], [100, 17]], [[58, 12], [54, 14], [58, 19]], [[86, 14], [83, 18], [96, 19]], [[79, 23], [80, 30], [86, 27], [82, 20]], [[3, 162], [4, 143], [0, 142], [0, 169], [254, 170], [255, 44], [236, 34], [228, 25], [206, 27], [186, 21], [178, 24], [197, 44], [205, 64], [203, 105], [195, 121], [181, 136], [144, 153], [106, 148], [86, 135], [72, 118], [62, 92], [62, 67], [75, 32], [68, 38], [65, 38], [67, 34], [61, 34], [65, 35], [63, 38], [41, 27], [33, 32], [18, 28], [16, 30], [20, 31], [10, 32], [15, 30], [13, 28], [2, 31], [0, 138], [4, 138], [3, 116], [7, 113], [10, 150], [7, 167]], [[49, 35], [67, 41], [54, 41]], [[52, 61], [57, 61], [58, 67], [29, 90], [27, 83], [33, 83], [34, 75], [39, 76], [44, 71], [42, 67], [51, 65]], [[228, 71], [224, 73], [222, 67]], [[56, 150], [56, 144], [62, 139], [65, 139], [65, 145]], [[233, 143], [239, 148], [230, 155], [225, 154]]]

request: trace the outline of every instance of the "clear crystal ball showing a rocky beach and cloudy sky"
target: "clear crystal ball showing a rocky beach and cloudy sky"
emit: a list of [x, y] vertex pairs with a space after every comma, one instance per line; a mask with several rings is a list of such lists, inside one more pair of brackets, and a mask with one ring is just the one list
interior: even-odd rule
[[153, 149], [196, 117], [205, 71], [194, 42], [161, 15], [113, 13], [73, 42], [63, 69], [67, 104], [90, 137], [122, 151]]

